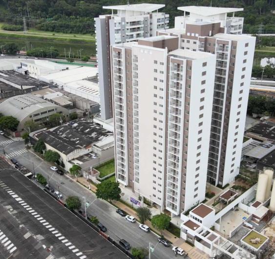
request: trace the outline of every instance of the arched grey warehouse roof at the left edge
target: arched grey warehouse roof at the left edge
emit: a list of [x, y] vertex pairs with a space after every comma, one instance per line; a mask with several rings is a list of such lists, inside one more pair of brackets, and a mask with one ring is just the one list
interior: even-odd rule
[[21, 121], [36, 110], [55, 107], [59, 106], [35, 95], [22, 94], [13, 96], [0, 103], [0, 112], [5, 116], [14, 116]]

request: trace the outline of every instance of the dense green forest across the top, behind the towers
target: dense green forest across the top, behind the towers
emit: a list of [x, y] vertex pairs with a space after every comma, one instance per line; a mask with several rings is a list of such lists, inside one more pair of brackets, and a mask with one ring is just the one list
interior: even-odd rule
[[[129, 0], [162, 3], [162, 11], [170, 15], [170, 26], [174, 17], [182, 15], [178, 6], [210, 6], [211, 0]], [[9, 26], [19, 30], [22, 18], [28, 27], [64, 33], [93, 33], [93, 18], [109, 13], [103, 5], [126, 4], [127, 0], [0, 0], [0, 22], [19, 25]], [[245, 18], [245, 33], [275, 33], [275, 0], [212, 0], [212, 6], [243, 7], [236, 15]], [[262, 25], [261, 25], [262, 24]]]

